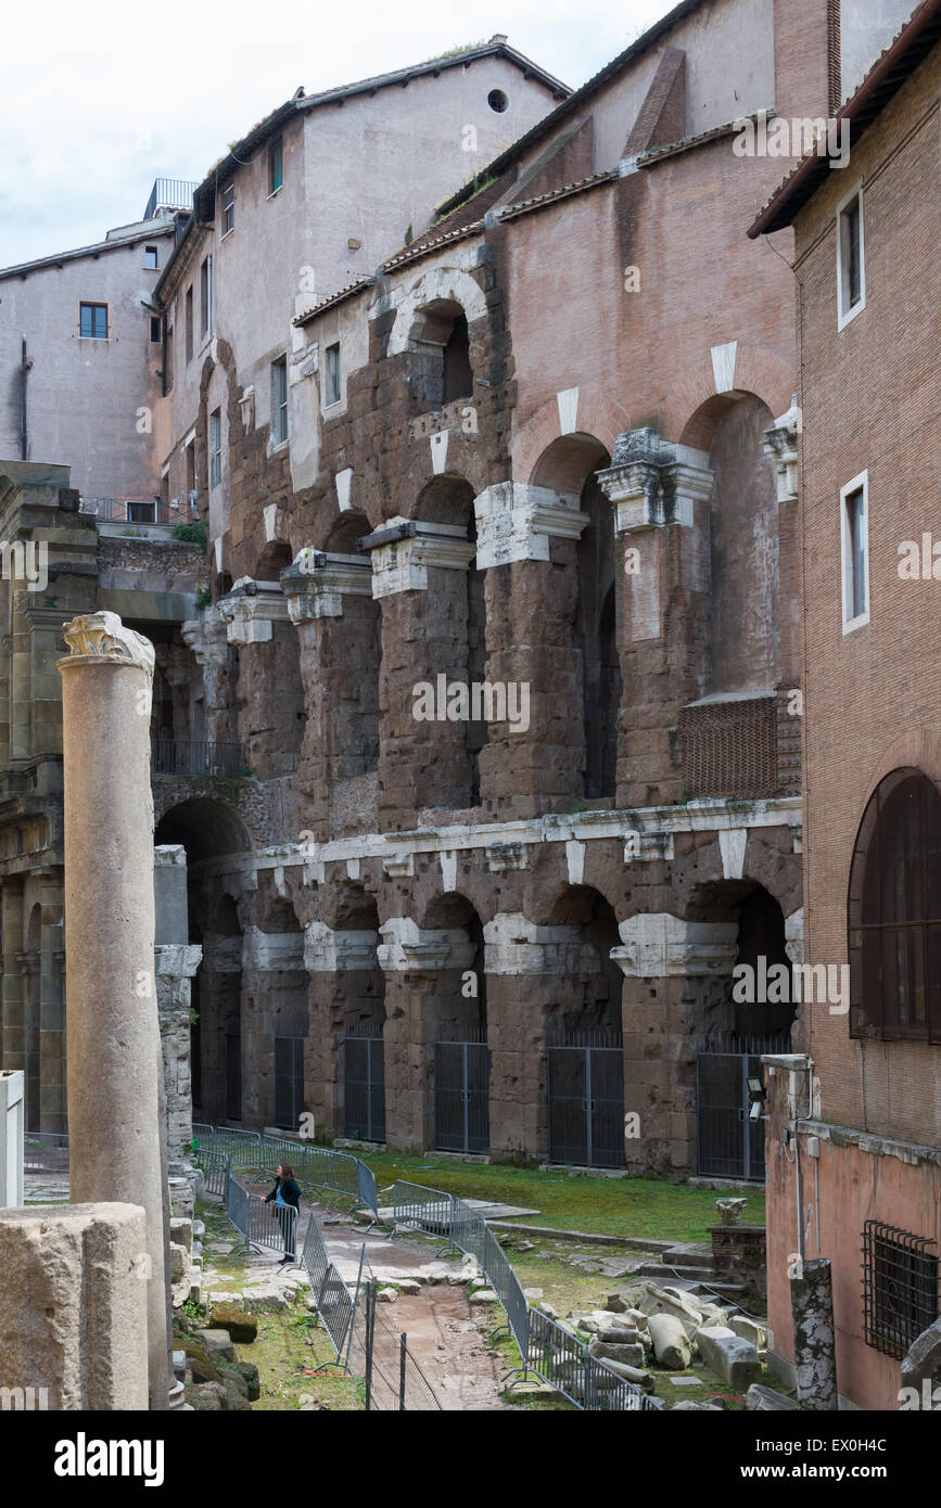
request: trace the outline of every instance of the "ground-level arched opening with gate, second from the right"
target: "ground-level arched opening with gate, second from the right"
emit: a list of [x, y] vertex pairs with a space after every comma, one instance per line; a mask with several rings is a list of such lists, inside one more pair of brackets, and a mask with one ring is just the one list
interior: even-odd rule
[[[614, 908], [590, 885], [569, 885], [549, 915], [570, 961], [546, 1006], [549, 1158], [624, 1166], [623, 974]], [[567, 933], [567, 935], [566, 935]]]

